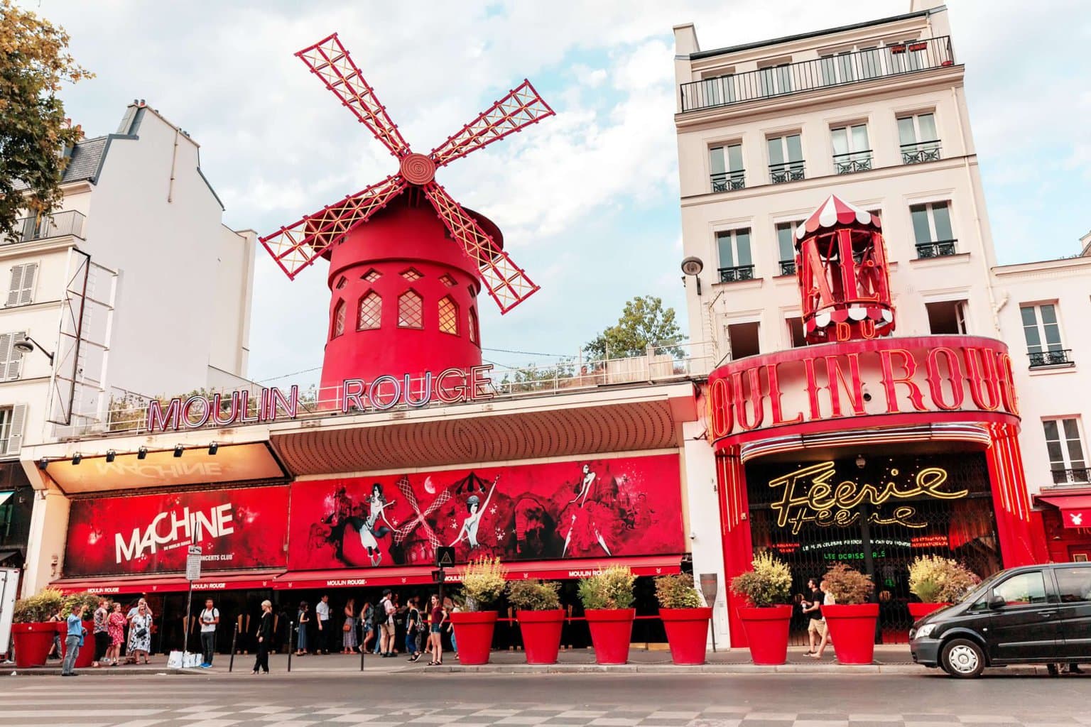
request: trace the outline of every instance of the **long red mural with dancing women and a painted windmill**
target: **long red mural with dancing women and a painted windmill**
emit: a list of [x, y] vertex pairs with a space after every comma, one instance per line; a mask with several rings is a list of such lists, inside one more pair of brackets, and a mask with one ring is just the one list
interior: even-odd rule
[[680, 554], [678, 455], [292, 485], [292, 570]]

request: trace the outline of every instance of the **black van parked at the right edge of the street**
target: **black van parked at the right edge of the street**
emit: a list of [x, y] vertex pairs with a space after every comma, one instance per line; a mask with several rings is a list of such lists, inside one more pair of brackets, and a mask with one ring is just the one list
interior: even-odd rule
[[963, 679], [986, 666], [1091, 662], [1091, 562], [1022, 566], [909, 632], [913, 661]]

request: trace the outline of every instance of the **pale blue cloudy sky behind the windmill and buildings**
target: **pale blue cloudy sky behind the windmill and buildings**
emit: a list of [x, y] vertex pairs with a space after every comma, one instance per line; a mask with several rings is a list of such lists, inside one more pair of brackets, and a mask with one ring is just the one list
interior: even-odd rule
[[[907, 12], [909, 0], [511, 0], [322, 3], [28, 0], [97, 77], [63, 92], [88, 135], [144, 98], [201, 145], [225, 222], [267, 233], [392, 173], [393, 158], [292, 53], [339, 33], [428, 152], [529, 77], [558, 116], [440, 172], [504, 230], [542, 290], [500, 316], [484, 356], [574, 354], [634, 295], [684, 305], [671, 26], [717, 48]], [[951, 0], [1002, 263], [1078, 252], [1091, 229], [1091, 3]], [[259, 251], [251, 377], [317, 379], [328, 290]], [[297, 372], [304, 372], [296, 374]], [[285, 375], [296, 374], [290, 377]]]

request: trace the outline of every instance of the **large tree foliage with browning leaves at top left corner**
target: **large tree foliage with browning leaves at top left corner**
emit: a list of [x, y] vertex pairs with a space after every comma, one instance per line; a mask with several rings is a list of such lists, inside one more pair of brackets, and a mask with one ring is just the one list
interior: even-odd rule
[[64, 119], [57, 93], [92, 77], [68, 53], [63, 28], [0, 0], [0, 235], [20, 213], [49, 215], [61, 199], [61, 173], [82, 132]]

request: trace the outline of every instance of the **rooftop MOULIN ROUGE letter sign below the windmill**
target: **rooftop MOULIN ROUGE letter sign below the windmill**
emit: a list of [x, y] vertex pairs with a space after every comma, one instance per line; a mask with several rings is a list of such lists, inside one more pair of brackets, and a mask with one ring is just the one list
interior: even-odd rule
[[[490, 371], [492, 364], [470, 366], [469, 371], [447, 368], [434, 375], [425, 372], [419, 377], [409, 374], [401, 377], [384, 375], [375, 377], [370, 384], [362, 378], [348, 378], [337, 393], [339, 408], [347, 414], [352, 410], [386, 411], [398, 404], [420, 409], [433, 401], [456, 404], [492, 399], [492, 379], [488, 376]], [[275, 422], [277, 416], [295, 419], [298, 413], [298, 386], [292, 386], [287, 393], [276, 387], [261, 389], [255, 401], [245, 389], [230, 395], [214, 393], [211, 397], [199, 393], [187, 399], [176, 397], [166, 407], [153, 400], [147, 408], [147, 429], [157, 432], [197, 429], [208, 424], [259, 424]]]

